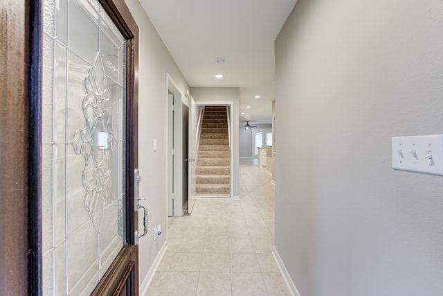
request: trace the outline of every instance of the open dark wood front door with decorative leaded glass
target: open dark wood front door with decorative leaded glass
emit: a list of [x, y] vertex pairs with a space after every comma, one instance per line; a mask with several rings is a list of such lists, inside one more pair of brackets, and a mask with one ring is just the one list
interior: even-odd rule
[[0, 295], [138, 295], [138, 27], [129, 9], [7, 0], [1, 34]]

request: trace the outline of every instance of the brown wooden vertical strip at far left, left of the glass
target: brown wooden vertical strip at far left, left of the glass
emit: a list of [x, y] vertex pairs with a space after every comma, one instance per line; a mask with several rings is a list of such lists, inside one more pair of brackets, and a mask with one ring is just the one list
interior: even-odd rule
[[31, 164], [39, 138], [31, 117], [40, 98], [39, 9], [33, 0], [0, 4], [0, 295], [41, 292], [40, 236], [33, 232], [40, 222], [39, 167]]

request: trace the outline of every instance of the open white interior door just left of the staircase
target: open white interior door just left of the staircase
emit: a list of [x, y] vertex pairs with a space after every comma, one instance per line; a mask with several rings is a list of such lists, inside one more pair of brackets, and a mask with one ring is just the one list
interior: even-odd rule
[[198, 127], [198, 112], [197, 105], [195, 105], [194, 98], [189, 97], [189, 117], [188, 117], [188, 213], [191, 214], [195, 203], [196, 195], [196, 179], [195, 173], [197, 169], [197, 127]]

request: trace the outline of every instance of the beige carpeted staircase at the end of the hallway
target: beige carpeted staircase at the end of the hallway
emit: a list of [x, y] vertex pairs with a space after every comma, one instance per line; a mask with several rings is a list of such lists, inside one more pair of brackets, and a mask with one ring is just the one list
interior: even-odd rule
[[196, 168], [196, 193], [230, 197], [230, 150], [226, 106], [206, 106], [201, 123]]

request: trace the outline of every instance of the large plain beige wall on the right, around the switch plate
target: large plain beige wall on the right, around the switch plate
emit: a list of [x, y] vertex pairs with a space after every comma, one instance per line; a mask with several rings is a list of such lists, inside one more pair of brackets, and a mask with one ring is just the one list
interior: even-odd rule
[[[300, 0], [275, 41], [275, 247], [303, 296], [443, 295], [443, 2]], [[285, 137], [282, 137], [285, 135]]]

